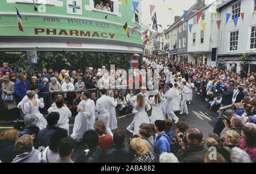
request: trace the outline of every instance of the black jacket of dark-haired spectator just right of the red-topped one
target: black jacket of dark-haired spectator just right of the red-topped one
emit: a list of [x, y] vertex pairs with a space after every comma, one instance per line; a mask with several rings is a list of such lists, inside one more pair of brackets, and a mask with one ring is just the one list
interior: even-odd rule
[[134, 152], [125, 145], [114, 145], [106, 150], [101, 157], [102, 163], [131, 163], [134, 159]]

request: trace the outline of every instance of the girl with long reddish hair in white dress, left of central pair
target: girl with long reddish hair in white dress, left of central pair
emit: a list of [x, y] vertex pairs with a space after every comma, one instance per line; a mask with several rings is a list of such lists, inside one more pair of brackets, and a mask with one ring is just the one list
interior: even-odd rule
[[151, 109], [150, 104], [146, 103], [144, 97], [141, 94], [137, 94], [137, 101], [134, 103], [133, 110], [133, 113], [135, 113], [133, 131], [134, 135], [139, 133], [139, 126], [142, 123], [150, 124], [150, 120], [148, 118], [147, 112], [145, 111], [145, 108], [147, 108], [147, 111], [149, 111]]

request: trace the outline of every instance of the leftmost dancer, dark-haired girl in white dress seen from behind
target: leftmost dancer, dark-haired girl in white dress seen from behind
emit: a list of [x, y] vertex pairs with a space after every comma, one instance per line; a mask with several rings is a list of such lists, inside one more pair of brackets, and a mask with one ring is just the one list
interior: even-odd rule
[[35, 92], [34, 91], [27, 91], [28, 102], [24, 104], [24, 113], [25, 114], [34, 114], [38, 117], [38, 122], [36, 126], [41, 130], [46, 128], [47, 121], [46, 118], [43, 117], [43, 114], [39, 112], [39, 107], [44, 108], [44, 103], [40, 99], [34, 99]]

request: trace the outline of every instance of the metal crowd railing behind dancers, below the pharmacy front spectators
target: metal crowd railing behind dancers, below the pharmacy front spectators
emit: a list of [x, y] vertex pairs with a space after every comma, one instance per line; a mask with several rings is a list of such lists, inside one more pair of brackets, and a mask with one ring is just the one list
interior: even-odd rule
[[[105, 89], [108, 90], [108, 92], [110, 90], [122, 91], [123, 96], [126, 97], [126, 95], [129, 93], [129, 90], [130, 90], [129, 87], [133, 91], [133, 94], [137, 95], [138, 90], [134, 90], [133, 84], [125, 85], [125, 86], [114, 86], [114, 87], [109, 87], [109, 88], [105, 88]], [[90, 92], [90, 94], [95, 92], [97, 98], [100, 96], [100, 89], [98, 89], [98, 88], [92, 88], [92, 89], [88, 89], [86, 91]], [[52, 103], [55, 102], [55, 98], [57, 97], [57, 95], [63, 96], [65, 101], [67, 101], [69, 104], [73, 105], [73, 100], [76, 98], [76, 94], [82, 94], [82, 92], [83, 91], [81, 91], [81, 90], [75, 90], [75, 91], [71, 91], [71, 92], [64, 92], [64, 91], [40, 92], [40, 97], [43, 97], [43, 99], [44, 99], [44, 108], [41, 110], [41, 112], [47, 113], [47, 110], [51, 107]]]

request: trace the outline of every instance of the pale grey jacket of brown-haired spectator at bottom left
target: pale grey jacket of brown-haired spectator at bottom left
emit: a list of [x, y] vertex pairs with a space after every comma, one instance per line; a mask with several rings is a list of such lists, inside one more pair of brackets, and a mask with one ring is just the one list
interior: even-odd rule
[[31, 152], [24, 152], [23, 154], [17, 155], [12, 163], [41, 163], [40, 158], [41, 152], [32, 147]]

